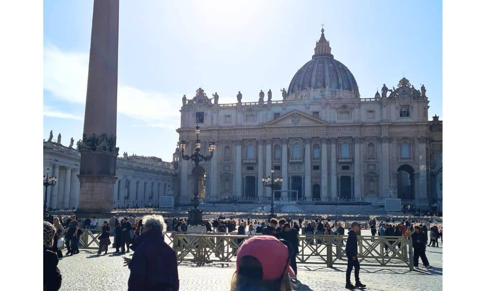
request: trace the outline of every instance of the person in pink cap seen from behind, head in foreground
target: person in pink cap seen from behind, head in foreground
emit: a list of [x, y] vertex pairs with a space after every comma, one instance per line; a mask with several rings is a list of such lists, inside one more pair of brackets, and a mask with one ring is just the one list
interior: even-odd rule
[[292, 291], [293, 252], [291, 244], [274, 236], [247, 239], [238, 249], [230, 291]]

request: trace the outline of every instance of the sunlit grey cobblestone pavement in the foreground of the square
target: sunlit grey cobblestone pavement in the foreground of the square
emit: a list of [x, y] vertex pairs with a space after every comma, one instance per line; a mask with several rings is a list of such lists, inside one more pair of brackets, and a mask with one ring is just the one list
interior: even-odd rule
[[[59, 261], [63, 276], [61, 290], [126, 290], [127, 267], [123, 267], [121, 255], [113, 253], [98, 256], [94, 250], [81, 250], [77, 255], [64, 257]], [[65, 251], [64, 251], [65, 252]], [[125, 254], [131, 257], [133, 252]], [[440, 247], [427, 247], [427, 258], [433, 268], [410, 271], [408, 268], [362, 267], [361, 281], [368, 291], [404, 291], [404, 290], [442, 290], [442, 244]], [[421, 266], [421, 261], [419, 260]], [[296, 291], [345, 290], [346, 265], [327, 268], [322, 265], [298, 265], [299, 283]], [[235, 272], [235, 265], [211, 263], [195, 266], [184, 262], [178, 267], [181, 291], [227, 291], [229, 281]], [[354, 273], [353, 273], [354, 274]], [[354, 275], [351, 281], [354, 283]]]

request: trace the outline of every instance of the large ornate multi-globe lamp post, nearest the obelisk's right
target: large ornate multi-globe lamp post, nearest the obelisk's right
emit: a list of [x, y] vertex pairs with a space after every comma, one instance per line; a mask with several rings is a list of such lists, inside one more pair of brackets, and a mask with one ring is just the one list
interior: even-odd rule
[[[191, 155], [184, 155], [184, 151], [186, 150], [186, 141], [182, 140], [177, 143], [177, 147], [181, 152], [182, 159], [189, 161], [194, 161], [196, 165], [196, 178], [199, 178], [199, 162], [208, 162], [211, 160], [214, 150], [216, 149], [216, 144], [214, 142], [209, 143], [208, 151], [209, 155], [204, 156], [201, 154], [201, 142], [199, 141], [199, 134], [201, 133], [201, 129], [199, 126], [196, 125], [196, 129], [194, 130], [196, 134], [196, 144], [194, 146], [194, 152]], [[213, 173], [216, 175], [216, 173]], [[193, 209], [189, 210], [189, 223], [191, 225], [197, 225], [203, 223], [203, 211], [198, 209], [199, 206], [199, 181], [196, 183], [196, 189], [194, 191], [194, 197], [191, 199]]]

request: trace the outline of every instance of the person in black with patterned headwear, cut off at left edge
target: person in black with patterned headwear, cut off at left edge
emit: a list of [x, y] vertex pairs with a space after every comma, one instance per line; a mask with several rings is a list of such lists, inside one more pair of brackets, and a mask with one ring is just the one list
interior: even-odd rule
[[44, 290], [57, 291], [61, 288], [62, 276], [61, 271], [57, 268], [59, 259], [57, 254], [51, 251], [55, 227], [47, 221], [44, 221]]

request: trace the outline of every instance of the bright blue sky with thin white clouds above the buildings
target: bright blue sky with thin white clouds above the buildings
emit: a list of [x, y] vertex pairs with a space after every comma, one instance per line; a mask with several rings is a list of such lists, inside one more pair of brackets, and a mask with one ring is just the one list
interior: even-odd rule
[[[181, 97], [278, 92], [313, 54], [321, 23], [361, 97], [405, 76], [442, 119], [441, 1], [120, 1], [117, 146], [172, 160]], [[83, 132], [93, 1], [44, 1], [44, 137]]]

